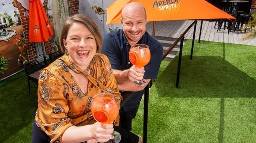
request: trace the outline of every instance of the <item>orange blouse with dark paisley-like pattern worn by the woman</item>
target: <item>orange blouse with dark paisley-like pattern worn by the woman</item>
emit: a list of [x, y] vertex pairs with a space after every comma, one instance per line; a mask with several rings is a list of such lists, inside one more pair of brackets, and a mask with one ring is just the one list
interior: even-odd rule
[[[89, 79], [86, 94], [81, 91], [69, 70], [84, 74]], [[102, 92], [112, 93], [120, 105], [122, 97], [109, 59], [96, 53], [88, 68], [82, 71], [65, 54], [41, 71], [36, 124], [51, 138], [51, 143], [61, 143], [62, 134], [68, 127], [96, 122], [90, 106], [92, 98]], [[115, 125], [119, 125], [119, 117]]]

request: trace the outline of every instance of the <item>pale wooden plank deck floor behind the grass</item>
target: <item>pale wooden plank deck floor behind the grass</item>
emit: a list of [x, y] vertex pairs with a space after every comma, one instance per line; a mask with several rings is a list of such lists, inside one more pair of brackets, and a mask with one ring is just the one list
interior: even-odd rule
[[[178, 38], [181, 36], [188, 26], [193, 21], [157, 21], [155, 36], [172, 37]], [[152, 34], [153, 22], [147, 23], [147, 32]], [[197, 22], [196, 25], [196, 39], [199, 39], [201, 21]], [[256, 39], [253, 40], [241, 40], [245, 36], [244, 32], [230, 32], [228, 34], [227, 29], [221, 29], [217, 31], [217, 26], [214, 29], [215, 21], [203, 21], [201, 40], [224, 42], [224, 43], [235, 43], [256, 46]], [[185, 39], [192, 39], [194, 26], [187, 32]]]

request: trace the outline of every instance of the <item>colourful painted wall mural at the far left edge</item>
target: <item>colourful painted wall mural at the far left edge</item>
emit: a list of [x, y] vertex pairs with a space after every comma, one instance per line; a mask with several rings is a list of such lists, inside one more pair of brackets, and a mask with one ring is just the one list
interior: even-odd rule
[[13, 0], [0, 2], [0, 80], [23, 70], [27, 60], [19, 10]]

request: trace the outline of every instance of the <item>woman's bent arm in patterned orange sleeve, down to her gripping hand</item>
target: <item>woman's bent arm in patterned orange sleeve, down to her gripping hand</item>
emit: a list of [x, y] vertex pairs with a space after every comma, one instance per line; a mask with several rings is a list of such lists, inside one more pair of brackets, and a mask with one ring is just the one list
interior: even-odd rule
[[96, 122], [93, 125], [74, 126], [69, 114], [68, 84], [48, 69], [41, 72], [38, 82], [38, 114], [36, 121], [51, 138], [51, 143], [60, 140], [64, 143], [80, 143], [90, 139], [100, 142], [109, 140], [113, 132], [112, 124]]

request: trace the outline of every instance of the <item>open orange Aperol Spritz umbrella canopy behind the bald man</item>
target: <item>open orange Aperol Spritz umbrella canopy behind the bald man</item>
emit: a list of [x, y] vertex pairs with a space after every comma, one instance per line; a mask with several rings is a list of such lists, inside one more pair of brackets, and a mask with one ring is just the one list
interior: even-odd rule
[[106, 8], [106, 24], [120, 23], [125, 4], [138, 2], [147, 13], [147, 21], [230, 19], [235, 18], [205, 0], [117, 0]]

